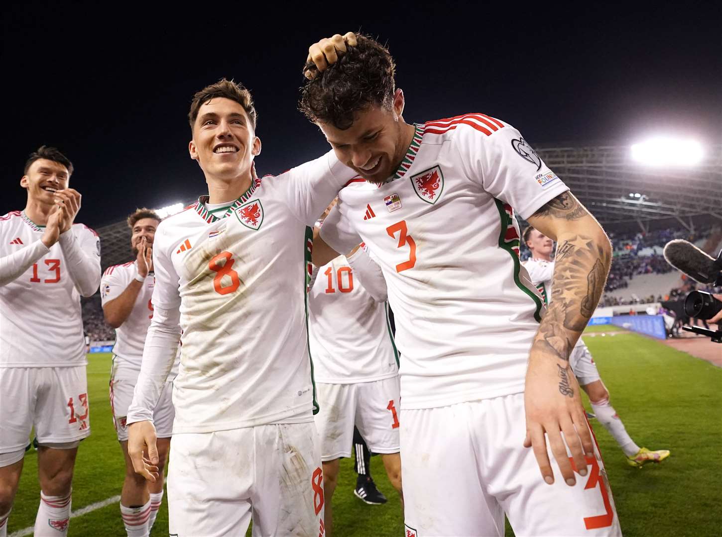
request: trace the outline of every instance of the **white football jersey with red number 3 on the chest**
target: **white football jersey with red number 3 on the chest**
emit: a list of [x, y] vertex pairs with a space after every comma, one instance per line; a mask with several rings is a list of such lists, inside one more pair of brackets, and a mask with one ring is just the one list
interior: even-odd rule
[[514, 214], [567, 187], [495, 118], [415, 128], [393, 177], [349, 182], [321, 236], [338, 252], [364, 241], [375, 254], [403, 357], [402, 408], [521, 392], [544, 306], [519, 262]]

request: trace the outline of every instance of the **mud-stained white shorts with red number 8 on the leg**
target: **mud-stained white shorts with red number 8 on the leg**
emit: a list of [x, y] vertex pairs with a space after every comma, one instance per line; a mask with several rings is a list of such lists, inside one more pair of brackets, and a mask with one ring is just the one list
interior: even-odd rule
[[323, 527], [323, 470], [313, 422], [173, 436], [171, 536], [308, 536]]

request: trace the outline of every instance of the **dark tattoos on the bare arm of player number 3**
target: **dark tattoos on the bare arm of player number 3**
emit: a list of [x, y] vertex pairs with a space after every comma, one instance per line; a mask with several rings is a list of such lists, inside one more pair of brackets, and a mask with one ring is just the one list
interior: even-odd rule
[[[535, 216], [575, 220], [586, 209], [568, 192], [557, 196]], [[586, 327], [604, 290], [611, 251], [601, 234], [566, 235], [557, 246], [552, 278], [552, 297], [547, 314], [541, 319], [532, 350], [569, 360], [569, 354]], [[560, 373], [561, 376], [561, 373]], [[560, 391], [562, 385], [560, 384]], [[563, 393], [563, 391], [562, 391]]]

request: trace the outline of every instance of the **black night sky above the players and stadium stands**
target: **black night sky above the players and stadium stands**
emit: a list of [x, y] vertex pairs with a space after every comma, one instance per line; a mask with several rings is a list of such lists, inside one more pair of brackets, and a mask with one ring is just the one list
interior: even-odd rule
[[[97, 2], [26, 4], [4, 11], [2, 22], [8, 190], [0, 213], [25, 206], [22, 167], [41, 144], [73, 161], [71, 187], [83, 195], [76, 221], [90, 226], [205, 193], [188, 157], [186, 115], [193, 92], [222, 76], [256, 99], [259, 174], [318, 156], [326, 141], [296, 110], [300, 70], [311, 43], [349, 30], [388, 45], [407, 122], [484, 112], [545, 144], [722, 138], [719, 6], [409, 1], [301, 10], [266, 2], [270, 13], [258, 14], [250, 2], [169, 4], [166, 12], [142, 7], [150, 2], [113, 11]], [[334, 12], [310, 14], [329, 6]]]

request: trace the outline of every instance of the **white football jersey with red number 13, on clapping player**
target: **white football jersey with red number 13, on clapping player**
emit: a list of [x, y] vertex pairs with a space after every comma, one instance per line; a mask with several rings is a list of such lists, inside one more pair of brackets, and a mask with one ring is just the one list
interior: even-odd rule
[[[39, 241], [44, 229], [25, 211], [14, 210], [1, 216], [0, 257]], [[74, 223], [66, 233], [74, 234], [86, 257], [97, 259], [100, 276], [100, 239], [95, 231]], [[25, 273], [0, 287], [0, 367], [85, 363], [80, 293], [58, 241]]]

